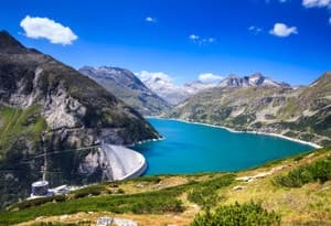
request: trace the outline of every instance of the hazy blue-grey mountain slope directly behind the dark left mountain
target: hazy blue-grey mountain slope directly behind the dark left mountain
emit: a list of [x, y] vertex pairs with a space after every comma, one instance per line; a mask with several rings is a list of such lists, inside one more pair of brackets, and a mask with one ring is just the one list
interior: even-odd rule
[[170, 108], [170, 104], [147, 88], [134, 73], [127, 69], [84, 66], [78, 71], [145, 116], [157, 116]]

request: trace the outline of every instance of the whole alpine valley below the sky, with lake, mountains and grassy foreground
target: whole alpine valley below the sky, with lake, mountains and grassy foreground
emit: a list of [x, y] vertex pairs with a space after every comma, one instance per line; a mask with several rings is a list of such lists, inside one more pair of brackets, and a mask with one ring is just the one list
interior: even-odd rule
[[[330, 225], [330, 72], [177, 85], [76, 71], [1, 31], [0, 225]], [[25, 201], [40, 180], [76, 189]]]

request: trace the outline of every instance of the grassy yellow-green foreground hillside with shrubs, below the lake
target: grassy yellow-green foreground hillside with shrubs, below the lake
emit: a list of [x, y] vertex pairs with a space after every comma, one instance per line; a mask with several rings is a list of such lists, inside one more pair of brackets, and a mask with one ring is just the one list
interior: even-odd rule
[[190, 225], [194, 218], [192, 225], [211, 225], [214, 214], [221, 213], [216, 219], [227, 219], [225, 225], [232, 217], [252, 217], [261, 220], [258, 225], [280, 220], [281, 225], [327, 226], [331, 224], [330, 172], [331, 149], [325, 148], [235, 173], [147, 176], [25, 201], [0, 213], [0, 224], [94, 225], [106, 216], [141, 226]]

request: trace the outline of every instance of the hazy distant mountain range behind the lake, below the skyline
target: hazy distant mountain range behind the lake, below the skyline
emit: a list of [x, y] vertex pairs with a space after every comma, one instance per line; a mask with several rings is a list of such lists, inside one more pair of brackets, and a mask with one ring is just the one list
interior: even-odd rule
[[130, 71], [119, 67], [84, 66], [79, 72], [145, 116], [163, 114], [189, 97], [214, 87], [290, 87], [259, 73], [245, 77], [229, 75], [220, 83], [194, 80], [180, 86], [167, 77], [158, 75], [138, 77]]

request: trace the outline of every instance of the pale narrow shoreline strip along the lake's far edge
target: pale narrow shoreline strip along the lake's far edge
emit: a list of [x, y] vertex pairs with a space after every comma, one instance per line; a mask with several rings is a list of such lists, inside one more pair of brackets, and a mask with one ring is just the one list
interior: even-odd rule
[[296, 139], [296, 138], [290, 138], [290, 137], [287, 137], [287, 136], [284, 136], [284, 134], [278, 134], [278, 133], [269, 133], [269, 132], [259, 132], [259, 131], [238, 131], [238, 130], [234, 130], [232, 128], [228, 128], [228, 127], [224, 127], [224, 126], [215, 126], [215, 125], [210, 125], [210, 123], [204, 123], [204, 122], [195, 122], [195, 121], [188, 121], [188, 120], [184, 120], [184, 119], [177, 119], [177, 118], [161, 118], [161, 117], [146, 117], [147, 119], [160, 119], [160, 120], [172, 120], [172, 121], [180, 121], [180, 122], [184, 122], [184, 123], [193, 123], [193, 125], [200, 125], [200, 126], [206, 126], [206, 127], [213, 127], [213, 128], [218, 128], [218, 129], [225, 129], [229, 132], [233, 132], [233, 133], [252, 133], [252, 134], [265, 134], [265, 136], [270, 136], [270, 137], [277, 137], [277, 138], [281, 138], [281, 139], [285, 139], [285, 140], [290, 140], [290, 141], [293, 141], [293, 142], [298, 142], [298, 143], [301, 143], [301, 144], [307, 144], [307, 146], [310, 146], [312, 148], [316, 148], [316, 149], [320, 149], [320, 148], [323, 148], [317, 143], [313, 143], [313, 142], [309, 142], [309, 141], [305, 141], [305, 140], [300, 140], [300, 139]]

